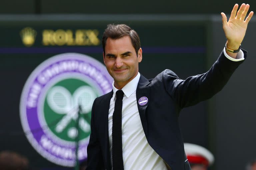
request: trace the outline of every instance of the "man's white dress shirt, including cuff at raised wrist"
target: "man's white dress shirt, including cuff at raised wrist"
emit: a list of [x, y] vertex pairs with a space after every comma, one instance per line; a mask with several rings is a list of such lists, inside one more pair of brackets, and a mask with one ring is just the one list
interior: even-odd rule
[[[244, 53], [240, 50], [237, 59], [227, 55], [224, 48], [224, 55], [232, 61], [244, 60]], [[148, 144], [142, 128], [139, 110], [136, 99], [136, 89], [140, 79], [140, 73], [127, 83], [122, 91], [124, 92], [122, 107], [122, 148], [125, 170], [167, 170], [163, 159]], [[112, 116], [114, 112], [116, 91], [113, 86], [113, 97], [110, 100], [108, 115], [108, 134], [110, 161], [112, 165]]]

